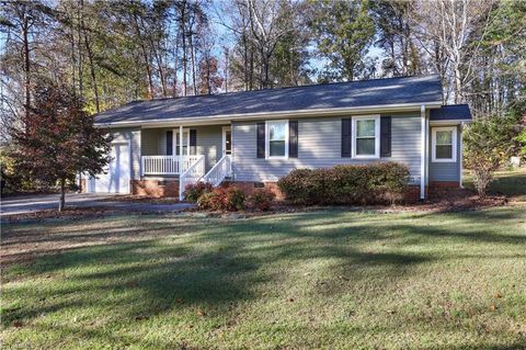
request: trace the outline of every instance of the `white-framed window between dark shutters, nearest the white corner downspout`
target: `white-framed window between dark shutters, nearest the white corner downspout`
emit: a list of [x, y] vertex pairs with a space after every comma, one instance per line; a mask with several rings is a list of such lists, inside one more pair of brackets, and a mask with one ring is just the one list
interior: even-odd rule
[[353, 116], [353, 158], [380, 157], [380, 116]]

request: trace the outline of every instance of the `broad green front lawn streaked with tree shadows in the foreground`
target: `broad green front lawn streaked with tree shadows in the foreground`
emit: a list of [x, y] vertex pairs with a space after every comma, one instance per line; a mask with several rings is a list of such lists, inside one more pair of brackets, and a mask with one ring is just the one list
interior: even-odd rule
[[2, 227], [4, 349], [524, 349], [526, 204]]

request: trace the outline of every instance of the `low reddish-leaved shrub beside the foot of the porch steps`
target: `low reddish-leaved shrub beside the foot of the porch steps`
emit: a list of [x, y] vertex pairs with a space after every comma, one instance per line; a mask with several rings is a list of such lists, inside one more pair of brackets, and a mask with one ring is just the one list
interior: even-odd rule
[[236, 212], [244, 210], [244, 192], [236, 187], [219, 187], [197, 200], [202, 210]]

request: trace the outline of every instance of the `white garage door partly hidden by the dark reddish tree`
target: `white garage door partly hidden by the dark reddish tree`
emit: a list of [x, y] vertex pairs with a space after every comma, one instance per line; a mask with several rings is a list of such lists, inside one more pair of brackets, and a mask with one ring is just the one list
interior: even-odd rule
[[129, 145], [112, 144], [111, 157], [107, 173], [92, 179], [90, 192], [129, 193]]

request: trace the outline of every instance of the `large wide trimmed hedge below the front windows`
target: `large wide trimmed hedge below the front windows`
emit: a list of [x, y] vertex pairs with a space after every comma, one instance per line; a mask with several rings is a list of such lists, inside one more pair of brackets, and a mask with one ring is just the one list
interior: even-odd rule
[[409, 169], [396, 162], [344, 165], [328, 169], [297, 169], [277, 185], [295, 204], [376, 204], [403, 197]]

